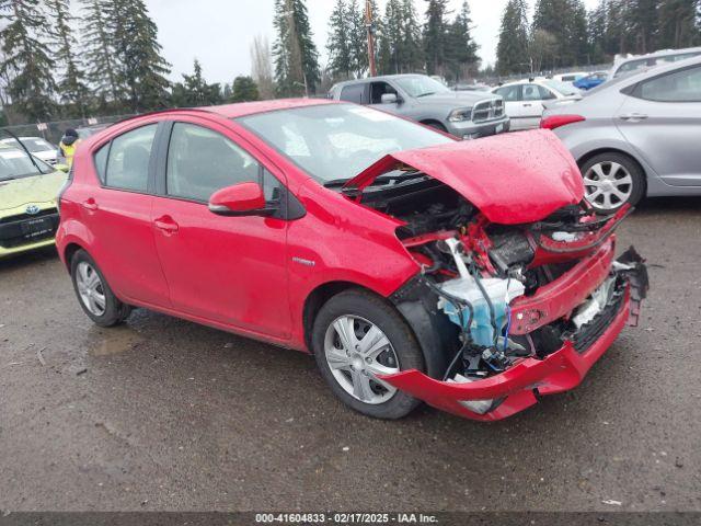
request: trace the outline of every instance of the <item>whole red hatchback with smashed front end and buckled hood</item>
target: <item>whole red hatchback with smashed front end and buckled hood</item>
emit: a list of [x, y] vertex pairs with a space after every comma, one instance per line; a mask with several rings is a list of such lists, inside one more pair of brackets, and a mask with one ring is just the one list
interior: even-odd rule
[[57, 243], [100, 325], [146, 307], [313, 352], [352, 408], [498, 420], [577, 386], [647, 290], [547, 130], [457, 141], [371, 108], [143, 115], [87, 140]]

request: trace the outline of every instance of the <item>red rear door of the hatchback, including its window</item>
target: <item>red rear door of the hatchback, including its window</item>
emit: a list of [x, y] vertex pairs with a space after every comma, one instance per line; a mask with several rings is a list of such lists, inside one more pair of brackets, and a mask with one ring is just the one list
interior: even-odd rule
[[101, 185], [80, 187], [91, 255], [124, 300], [168, 307], [168, 286], [153, 232], [153, 144], [159, 124], [146, 124], [102, 146], [93, 156]]

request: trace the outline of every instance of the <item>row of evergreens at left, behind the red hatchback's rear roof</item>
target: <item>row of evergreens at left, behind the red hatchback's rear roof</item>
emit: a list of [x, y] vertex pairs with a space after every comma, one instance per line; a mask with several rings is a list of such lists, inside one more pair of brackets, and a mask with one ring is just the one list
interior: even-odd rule
[[0, 104], [10, 123], [258, 98], [250, 77], [207, 83], [197, 60], [192, 75], [169, 81], [143, 0], [0, 0]]

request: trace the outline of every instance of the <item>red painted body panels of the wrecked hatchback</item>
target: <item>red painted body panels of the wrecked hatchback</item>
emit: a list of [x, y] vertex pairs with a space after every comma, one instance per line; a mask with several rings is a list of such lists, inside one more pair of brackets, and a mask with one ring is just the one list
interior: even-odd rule
[[[68, 264], [73, 250], [88, 251], [116, 296], [129, 305], [309, 352], [304, 311], [317, 290], [353, 284], [389, 298], [425, 264], [413, 258], [409, 248], [453, 233], [437, 232], [400, 242], [397, 229], [404, 225], [402, 221], [324, 188], [232, 121], [317, 104], [334, 102], [269, 101], [175, 110], [140, 116], [91, 137], [76, 156], [72, 183], [60, 198], [57, 245], [61, 259]], [[222, 217], [202, 203], [101, 185], [94, 152], [125, 132], [165, 121], [197, 124], [241, 146], [287, 186], [306, 215], [291, 221]], [[397, 163], [422, 170], [458, 191], [481, 210], [484, 225], [540, 220], [583, 197], [576, 164], [550, 132], [397, 152], [348, 185], [361, 190]], [[577, 299], [604, 279], [598, 271], [610, 267], [612, 241], [604, 247], [587, 260], [597, 270], [590, 279], [577, 283], [576, 275], [563, 276], [537, 301], [520, 307], [515, 304], [515, 312], [531, 312], [553, 301], [559, 305], [558, 312], [572, 310]], [[545, 359], [527, 358], [501, 375], [467, 386], [441, 382], [416, 370], [386, 380], [462, 416], [507, 416], [535, 402], [535, 387], [550, 393], [576, 386], [622, 329], [630, 308], [628, 297], [616, 322], [584, 355], [565, 344]], [[517, 322], [515, 327], [518, 330]], [[506, 401], [485, 415], [457, 402], [501, 397], [507, 397]]]

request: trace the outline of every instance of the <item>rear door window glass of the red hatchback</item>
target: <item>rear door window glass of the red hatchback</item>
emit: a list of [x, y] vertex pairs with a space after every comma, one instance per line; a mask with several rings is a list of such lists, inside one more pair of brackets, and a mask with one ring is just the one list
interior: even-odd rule
[[[105, 174], [107, 186], [135, 192], [147, 191], [149, 161], [157, 128], [157, 124], [150, 124], [127, 132], [112, 141]], [[102, 150], [97, 152], [100, 153]]]

